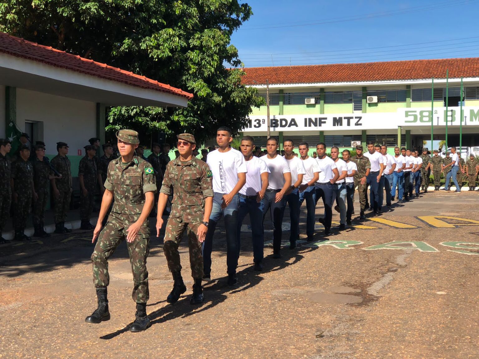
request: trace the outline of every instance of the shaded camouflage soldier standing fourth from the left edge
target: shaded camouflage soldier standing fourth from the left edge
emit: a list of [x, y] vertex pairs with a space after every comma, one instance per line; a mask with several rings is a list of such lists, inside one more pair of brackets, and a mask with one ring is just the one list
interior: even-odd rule
[[68, 145], [65, 142], [57, 142], [58, 155], [52, 158], [51, 165], [61, 175], [50, 179], [55, 203], [55, 233], [63, 234], [71, 232], [65, 227], [68, 209], [70, 208], [71, 192], [73, 191], [71, 177], [71, 163], [68, 159]]

